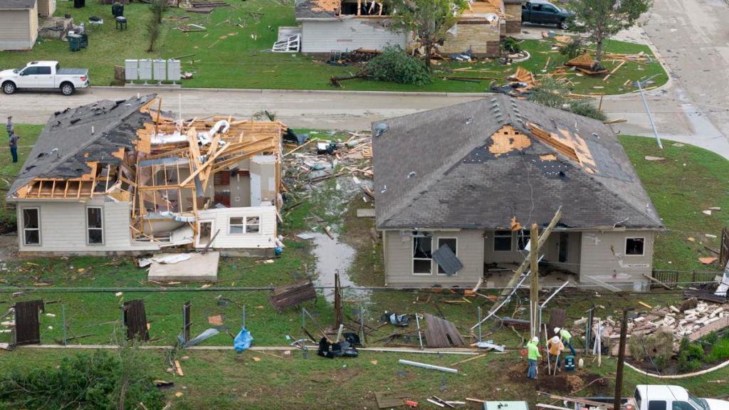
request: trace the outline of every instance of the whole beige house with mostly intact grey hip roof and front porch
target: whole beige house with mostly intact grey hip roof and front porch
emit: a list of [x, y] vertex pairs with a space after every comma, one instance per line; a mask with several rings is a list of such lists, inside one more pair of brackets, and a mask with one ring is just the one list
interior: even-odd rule
[[499, 94], [373, 123], [373, 136], [387, 285], [488, 283], [561, 207], [540, 272], [649, 288], [663, 223], [608, 125]]

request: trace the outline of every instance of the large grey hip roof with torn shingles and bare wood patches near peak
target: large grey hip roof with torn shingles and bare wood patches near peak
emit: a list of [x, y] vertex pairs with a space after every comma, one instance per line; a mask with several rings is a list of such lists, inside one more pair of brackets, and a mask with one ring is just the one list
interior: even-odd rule
[[[504, 129], [522, 135], [494, 136]], [[559, 206], [569, 228], [663, 227], [615, 134], [587, 117], [499, 94], [373, 123], [373, 135], [380, 229], [546, 225]]]

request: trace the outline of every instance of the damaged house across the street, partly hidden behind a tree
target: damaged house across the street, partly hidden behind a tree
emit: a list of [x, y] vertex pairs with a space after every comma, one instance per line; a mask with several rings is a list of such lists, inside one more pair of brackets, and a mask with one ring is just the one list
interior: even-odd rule
[[[381, 50], [388, 45], [417, 47], [410, 34], [392, 28], [391, 12], [387, 1], [297, 0], [301, 51], [328, 56], [332, 52]], [[469, 8], [437, 49], [445, 54], [471, 50], [476, 57], [495, 57], [500, 38], [520, 30], [521, 0], [469, 1]]]

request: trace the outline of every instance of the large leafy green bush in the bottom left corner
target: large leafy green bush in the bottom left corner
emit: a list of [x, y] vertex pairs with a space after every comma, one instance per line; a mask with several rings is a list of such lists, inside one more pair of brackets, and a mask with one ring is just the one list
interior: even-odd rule
[[0, 379], [1, 409], [161, 409], [163, 395], [130, 349], [64, 357], [58, 368], [9, 371]]

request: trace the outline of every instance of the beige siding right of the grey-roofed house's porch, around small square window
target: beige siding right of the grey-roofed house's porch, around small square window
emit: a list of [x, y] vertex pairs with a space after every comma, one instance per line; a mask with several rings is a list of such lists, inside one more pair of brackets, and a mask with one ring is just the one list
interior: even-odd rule
[[[644, 255], [625, 255], [626, 238], [645, 238]], [[644, 290], [651, 274], [654, 233], [652, 231], [583, 232], [580, 282], [590, 277], [621, 289]]]

